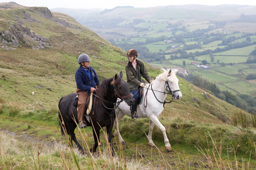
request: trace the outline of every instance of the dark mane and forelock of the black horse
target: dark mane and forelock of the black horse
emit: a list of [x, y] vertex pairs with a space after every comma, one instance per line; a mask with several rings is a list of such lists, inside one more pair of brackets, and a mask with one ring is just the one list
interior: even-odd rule
[[119, 84], [122, 78], [118, 77], [115, 81], [113, 81], [113, 78], [105, 79], [101, 82], [99, 88], [96, 90], [96, 95], [100, 98], [105, 98], [108, 95], [108, 90], [110, 89], [109, 84]]

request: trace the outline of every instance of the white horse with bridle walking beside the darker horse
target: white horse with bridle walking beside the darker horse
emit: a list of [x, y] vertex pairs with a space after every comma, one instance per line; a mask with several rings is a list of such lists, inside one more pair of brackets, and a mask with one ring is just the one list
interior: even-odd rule
[[[157, 78], [151, 84], [146, 84], [146, 86], [144, 87], [144, 98], [145, 98], [147, 89], [149, 88], [148, 94], [146, 97], [148, 100], [147, 106], [144, 107], [143, 103], [138, 105], [137, 114], [139, 118], [150, 119], [149, 132], [148, 132], [149, 145], [150, 146], [154, 145], [154, 142], [152, 141], [152, 131], [153, 131], [154, 124], [156, 124], [157, 127], [159, 127], [161, 132], [163, 133], [166, 150], [171, 151], [172, 147], [167, 138], [166, 129], [160, 123], [157, 117], [163, 112], [163, 109], [164, 109], [163, 102], [166, 99], [166, 95], [168, 91], [174, 94], [175, 100], [180, 99], [182, 97], [182, 94], [180, 92], [180, 87], [178, 84], [179, 80], [176, 77], [177, 70], [174, 71], [170, 69], [169, 72], [165, 69], [162, 69], [162, 70], [164, 71], [163, 73], [158, 75]], [[167, 91], [168, 88], [169, 90]], [[122, 142], [122, 144], [125, 144], [125, 141], [122, 139], [122, 136], [119, 133], [118, 122], [125, 115], [128, 115], [131, 117], [131, 110], [130, 110], [130, 107], [127, 104], [125, 104], [125, 102], [122, 102], [116, 108], [116, 113], [117, 113], [117, 117], [116, 117], [117, 120], [114, 123], [116, 130], [112, 136], [114, 137], [119, 134], [120, 141]]]

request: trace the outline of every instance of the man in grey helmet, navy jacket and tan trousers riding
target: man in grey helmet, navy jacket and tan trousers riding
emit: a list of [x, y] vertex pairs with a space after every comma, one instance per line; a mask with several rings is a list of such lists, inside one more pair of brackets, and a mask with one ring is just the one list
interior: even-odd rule
[[88, 55], [82, 53], [78, 58], [78, 63], [80, 67], [76, 71], [76, 93], [78, 98], [78, 121], [80, 128], [86, 127], [84, 122], [84, 112], [86, 106], [86, 99], [90, 92], [95, 92], [97, 86], [99, 87], [99, 79], [96, 75], [93, 67], [90, 66], [90, 61], [92, 61]]

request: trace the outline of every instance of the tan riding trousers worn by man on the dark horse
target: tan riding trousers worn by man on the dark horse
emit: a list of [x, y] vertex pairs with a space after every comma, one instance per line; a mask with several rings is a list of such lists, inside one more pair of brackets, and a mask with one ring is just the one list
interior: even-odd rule
[[84, 120], [84, 112], [85, 112], [86, 99], [88, 97], [88, 93], [80, 89], [76, 89], [76, 94], [79, 96], [77, 109], [78, 109], [78, 121], [80, 124], [80, 122]]

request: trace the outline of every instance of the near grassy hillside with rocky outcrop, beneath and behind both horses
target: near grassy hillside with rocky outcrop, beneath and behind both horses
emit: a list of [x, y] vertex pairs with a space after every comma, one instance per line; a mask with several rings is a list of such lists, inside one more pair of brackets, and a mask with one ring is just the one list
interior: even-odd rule
[[[8, 169], [11, 165], [19, 165], [20, 169], [40, 169], [39, 162], [41, 169], [59, 169], [64, 166], [63, 162], [67, 162], [70, 165], [67, 169], [75, 169], [74, 155], [69, 149], [58, 152], [57, 147], [53, 147], [58, 145], [52, 143], [52, 138], [59, 139], [67, 146], [59, 131], [56, 103], [61, 97], [75, 92], [74, 74], [79, 67], [77, 58], [82, 52], [89, 54], [93, 60], [91, 66], [96, 70], [100, 80], [111, 78], [120, 71], [125, 74], [126, 52], [82, 26], [72, 17], [49, 12], [47, 8], [0, 9], [0, 16], [3, 18], [0, 22], [0, 38], [3, 43], [3, 48], [0, 48], [0, 137], [1, 141], [12, 140], [17, 144], [17, 149], [10, 149], [7, 152], [8, 149], [3, 147], [12, 146], [3, 145], [1, 142], [0, 151], [3, 157], [0, 159], [0, 166], [3, 169]], [[20, 29], [22, 35], [13, 34], [6, 37], [6, 31], [13, 33], [13, 28]], [[39, 35], [41, 40], [35, 37]], [[19, 45], [14, 46], [14, 41]], [[44, 46], [44, 49], [40, 46]], [[152, 78], [161, 73], [160, 69], [154, 69], [148, 64], [145, 66]], [[165, 166], [168, 169], [221, 169], [217, 164], [224, 160], [224, 166], [227, 167], [228, 162], [235, 169], [247, 166], [250, 160], [248, 166], [250, 164], [250, 167], [255, 168], [255, 117], [215, 98], [211, 92], [199, 89], [182, 78], [179, 80], [183, 98], [166, 104], [159, 116], [160, 122], [166, 127], [173, 151], [165, 150], [163, 135], [156, 126], [153, 141], [159, 150], [148, 146], [145, 136], [149, 128], [148, 119], [132, 120], [125, 117], [120, 122], [120, 133], [127, 143], [121, 147], [118, 138], [113, 140], [116, 152], [121, 153], [123, 150], [123, 155], [118, 154], [119, 161], [123, 161], [121, 158], [125, 157], [129, 162], [126, 164], [127, 169], [132, 169], [130, 165], [135, 163], [138, 166], [134, 169], [138, 169], [140, 165], [145, 169], [149, 166], [153, 169]], [[32, 92], [35, 94], [32, 95]], [[171, 98], [168, 96], [167, 99]], [[87, 127], [85, 133], [84, 138], [89, 147], [92, 147], [92, 129]], [[11, 134], [15, 139], [10, 138]], [[78, 139], [81, 142], [81, 136]], [[103, 131], [101, 141], [105, 143]], [[37, 145], [29, 142], [35, 142]], [[40, 143], [48, 147], [45, 148]], [[218, 151], [222, 152], [220, 157], [213, 155], [216, 154], [217, 146]], [[29, 148], [32, 147], [29, 152]], [[201, 152], [206, 155], [198, 153], [196, 147], [201, 147]], [[20, 148], [26, 148], [26, 153], [20, 154]], [[61, 153], [64, 153], [62, 156], [66, 159], [61, 158]], [[96, 164], [99, 167], [113, 163], [109, 163], [111, 159], [100, 158], [100, 153], [96, 153], [95, 157], [97, 156], [99, 159], [96, 160]], [[79, 153], [76, 153], [76, 157], [81, 158], [81, 167], [88, 162], [89, 165], [93, 164], [93, 161], [80, 156]], [[216, 158], [217, 162], [212, 161], [210, 164], [209, 158]], [[52, 161], [49, 161], [50, 159]], [[160, 161], [163, 159], [164, 162]], [[148, 165], [148, 162], [152, 164]], [[112, 167], [116, 168], [111, 165]]]

